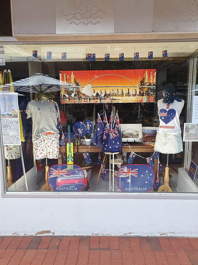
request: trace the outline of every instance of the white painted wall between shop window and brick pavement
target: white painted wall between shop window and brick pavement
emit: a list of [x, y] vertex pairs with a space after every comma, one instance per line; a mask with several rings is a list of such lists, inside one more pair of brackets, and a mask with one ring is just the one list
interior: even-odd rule
[[1, 198], [1, 235], [198, 236], [198, 200]]

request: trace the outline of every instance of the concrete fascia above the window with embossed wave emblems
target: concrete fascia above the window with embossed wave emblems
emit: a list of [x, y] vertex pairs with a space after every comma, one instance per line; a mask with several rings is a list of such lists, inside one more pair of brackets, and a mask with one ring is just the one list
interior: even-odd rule
[[198, 1], [12, 0], [14, 34], [198, 31]]

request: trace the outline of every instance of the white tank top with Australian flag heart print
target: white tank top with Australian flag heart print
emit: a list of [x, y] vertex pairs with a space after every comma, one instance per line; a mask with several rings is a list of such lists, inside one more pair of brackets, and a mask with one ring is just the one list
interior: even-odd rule
[[181, 133], [179, 116], [184, 106], [184, 100], [173, 103], [163, 103], [163, 98], [158, 100], [158, 115], [160, 119], [159, 133], [177, 134]]

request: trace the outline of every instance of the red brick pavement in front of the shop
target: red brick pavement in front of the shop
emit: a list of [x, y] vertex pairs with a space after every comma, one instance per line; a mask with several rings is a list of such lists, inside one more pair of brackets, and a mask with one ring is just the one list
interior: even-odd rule
[[198, 265], [198, 238], [0, 236], [0, 265]]

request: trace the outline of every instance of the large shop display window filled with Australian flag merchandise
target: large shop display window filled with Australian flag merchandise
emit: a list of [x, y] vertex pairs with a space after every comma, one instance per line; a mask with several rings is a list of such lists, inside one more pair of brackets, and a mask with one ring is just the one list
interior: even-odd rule
[[192, 180], [196, 142], [182, 138], [197, 95], [197, 42], [2, 46], [7, 192], [150, 193], [165, 184], [176, 193], [182, 167]]

